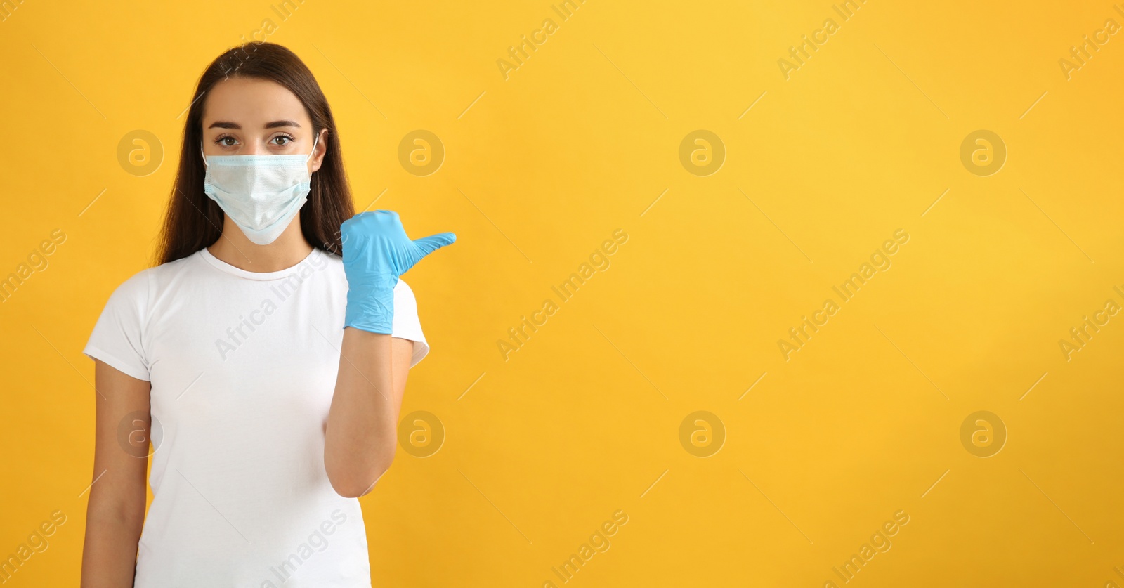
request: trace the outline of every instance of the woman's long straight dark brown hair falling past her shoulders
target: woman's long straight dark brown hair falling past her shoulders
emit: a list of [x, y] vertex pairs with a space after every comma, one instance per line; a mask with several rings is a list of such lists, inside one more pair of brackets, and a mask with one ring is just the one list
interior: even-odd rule
[[203, 193], [206, 168], [199, 155], [202, 143], [202, 98], [216, 83], [228, 78], [270, 80], [297, 94], [314, 133], [328, 129], [328, 151], [312, 174], [308, 201], [300, 209], [300, 229], [309, 245], [341, 255], [339, 225], [355, 214], [351, 188], [344, 173], [339, 134], [332, 108], [305, 62], [274, 43], [251, 42], [219, 55], [199, 78], [183, 126], [180, 166], [175, 172], [167, 214], [156, 251], [156, 263], [187, 257], [218, 241], [223, 234], [223, 209]]

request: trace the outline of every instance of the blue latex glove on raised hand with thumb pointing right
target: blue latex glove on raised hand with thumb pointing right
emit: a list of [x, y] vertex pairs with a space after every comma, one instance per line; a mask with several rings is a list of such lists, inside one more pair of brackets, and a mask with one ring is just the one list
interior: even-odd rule
[[398, 212], [360, 212], [339, 225], [347, 277], [347, 309], [344, 328], [391, 334], [395, 318], [395, 286], [422, 257], [456, 241], [452, 233], [438, 233], [410, 241]]

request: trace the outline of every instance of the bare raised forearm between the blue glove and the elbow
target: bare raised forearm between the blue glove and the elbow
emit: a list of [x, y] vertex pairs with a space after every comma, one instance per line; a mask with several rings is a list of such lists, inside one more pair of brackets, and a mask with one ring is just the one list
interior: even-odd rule
[[414, 342], [344, 329], [336, 390], [324, 433], [324, 467], [341, 496], [371, 491], [390, 468]]

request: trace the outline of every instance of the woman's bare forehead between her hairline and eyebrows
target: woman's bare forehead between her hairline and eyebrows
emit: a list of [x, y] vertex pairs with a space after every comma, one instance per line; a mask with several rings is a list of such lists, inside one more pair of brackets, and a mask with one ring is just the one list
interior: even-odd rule
[[215, 84], [203, 98], [203, 128], [215, 120], [238, 123], [243, 128], [261, 128], [272, 120], [296, 120], [309, 127], [311, 120], [297, 94], [271, 81], [229, 78]]

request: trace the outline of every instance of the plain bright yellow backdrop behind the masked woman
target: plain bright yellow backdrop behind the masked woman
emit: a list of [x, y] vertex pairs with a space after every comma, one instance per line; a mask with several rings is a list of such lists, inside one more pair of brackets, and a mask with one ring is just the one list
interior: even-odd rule
[[[546, 18], [558, 30], [505, 80], [496, 61]], [[786, 80], [777, 60], [826, 18], [839, 30]], [[265, 1], [26, 0], [0, 22], [0, 274], [67, 239], [0, 305], [0, 555], [49, 513], [67, 522], [9, 585], [78, 582], [81, 349], [152, 259], [199, 74], [271, 19], [265, 40], [328, 97], [357, 207], [386, 190], [374, 208], [410, 236], [457, 235], [404, 278], [433, 351], [402, 415], [436, 415], [446, 438], [400, 450], [362, 499], [375, 586], [561, 585], [551, 567], [618, 509], [628, 523], [570, 586], [842, 585], [832, 568], [898, 510], [908, 525], [851, 585], [1124, 586], [1124, 315], [1071, 361], [1058, 343], [1124, 302], [1124, 37], [1069, 80], [1058, 63], [1109, 18], [1124, 24], [1111, 2], [870, 0], [843, 21], [827, 1], [588, 0], [563, 21], [547, 1], [307, 0], [281, 19]], [[151, 175], [117, 157], [136, 129], [164, 148]], [[432, 175], [399, 163], [414, 129], [445, 146]], [[726, 147], [713, 175], [679, 161], [696, 129]], [[977, 129], [1008, 150], [990, 177], [960, 160]], [[617, 228], [611, 266], [505, 361], [497, 341]], [[892, 266], [786, 361], [778, 340], [898, 228]], [[679, 441], [696, 410], [726, 429], [710, 458]], [[988, 459], [960, 441], [977, 410], [1008, 432]]]

